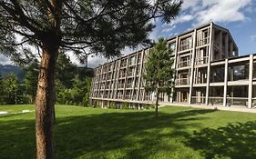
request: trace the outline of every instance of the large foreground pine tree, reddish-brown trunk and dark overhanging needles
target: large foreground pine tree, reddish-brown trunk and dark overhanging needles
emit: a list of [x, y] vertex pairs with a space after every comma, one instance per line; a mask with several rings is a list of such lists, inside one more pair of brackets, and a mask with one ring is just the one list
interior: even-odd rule
[[37, 158], [54, 157], [51, 116], [59, 49], [72, 50], [80, 58], [88, 54], [85, 50], [106, 57], [119, 55], [125, 46], [148, 44], [148, 32], [154, 27], [151, 19], [170, 22], [180, 5], [179, 0], [0, 0], [0, 51], [19, 62], [36, 57], [29, 52], [19, 54], [19, 45], [35, 45], [40, 52]]

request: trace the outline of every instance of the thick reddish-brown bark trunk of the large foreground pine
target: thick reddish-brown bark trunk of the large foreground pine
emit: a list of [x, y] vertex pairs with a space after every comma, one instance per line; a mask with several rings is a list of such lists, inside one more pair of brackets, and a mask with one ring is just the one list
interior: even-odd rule
[[36, 91], [36, 158], [54, 158], [53, 116], [58, 45], [43, 43]]

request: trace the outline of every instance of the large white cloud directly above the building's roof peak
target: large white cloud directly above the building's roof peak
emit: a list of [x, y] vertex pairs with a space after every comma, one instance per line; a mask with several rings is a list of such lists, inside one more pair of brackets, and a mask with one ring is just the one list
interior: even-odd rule
[[[170, 24], [162, 25], [162, 33], [175, 31], [171, 28], [185, 22], [193, 25], [203, 25], [212, 22], [230, 23], [249, 20], [245, 12], [252, 12], [255, 6], [253, 0], [184, 0], [182, 11]], [[179, 26], [178, 26], [179, 27]], [[158, 31], [156, 31], [158, 33]], [[156, 37], [153, 33], [153, 37]]]

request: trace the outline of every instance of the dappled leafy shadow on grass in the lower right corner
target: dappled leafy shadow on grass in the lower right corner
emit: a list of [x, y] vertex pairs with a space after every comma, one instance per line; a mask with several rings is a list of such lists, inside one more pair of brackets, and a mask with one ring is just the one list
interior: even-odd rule
[[186, 145], [200, 150], [206, 159], [255, 159], [256, 121], [205, 128], [190, 135]]

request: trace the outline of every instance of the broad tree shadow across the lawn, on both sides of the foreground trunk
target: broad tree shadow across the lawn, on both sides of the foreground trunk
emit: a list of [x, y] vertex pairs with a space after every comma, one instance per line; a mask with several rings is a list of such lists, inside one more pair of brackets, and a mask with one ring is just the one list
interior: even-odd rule
[[[169, 158], [179, 149], [176, 140], [189, 135], [186, 129], [200, 127], [196, 121], [204, 118], [198, 115], [211, 112], [159, 113], [157, 119], [148, 111], [57, 118], [56, 158]], [[34, 120], [5, 121], [0, 129], [0, 158], [35, 158]]]

